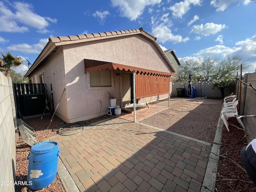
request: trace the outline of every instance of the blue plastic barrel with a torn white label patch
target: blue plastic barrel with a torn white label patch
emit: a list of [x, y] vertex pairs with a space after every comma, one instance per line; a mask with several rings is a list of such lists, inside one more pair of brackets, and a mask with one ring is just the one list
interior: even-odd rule
[[35, 144], [28, 155], [28, 184], [32, 190], [50, 185], [58, 170], [59, 144], [48, 141]]

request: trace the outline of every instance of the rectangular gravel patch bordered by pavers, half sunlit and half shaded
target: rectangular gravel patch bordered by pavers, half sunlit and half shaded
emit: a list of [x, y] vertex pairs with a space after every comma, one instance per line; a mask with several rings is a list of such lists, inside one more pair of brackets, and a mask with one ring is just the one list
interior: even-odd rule
[[212, 143], [222, 104], [177, 102], [141, 123]]

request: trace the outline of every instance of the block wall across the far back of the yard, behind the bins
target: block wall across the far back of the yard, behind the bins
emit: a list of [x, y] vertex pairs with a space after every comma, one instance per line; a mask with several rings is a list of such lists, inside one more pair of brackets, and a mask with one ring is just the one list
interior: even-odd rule
[[[201, 97], [201, 90], [202, 90], [202, 97], [207, 97], [209, 99], [221, 99], [221, 92], [219, 89], [212, 89], [212, 82], [203, 82], [202, 85], [200, 83], [192, 82], [192, 86], [195, 87], [195, 97]], [[174, 82], [172, 84], [172, 96], [176, 97], [177, 90], [176, 88], [188, 88], [188, 82]], [[225, 88], [224, 95], [228, 96], [231, 93], [234, 93], [234, 88]]]

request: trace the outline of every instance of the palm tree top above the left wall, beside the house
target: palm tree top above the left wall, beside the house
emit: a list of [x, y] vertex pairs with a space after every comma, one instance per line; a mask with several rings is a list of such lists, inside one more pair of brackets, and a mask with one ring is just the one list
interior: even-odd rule
[[10, 52], [3, 54], [1, 52], [3, 58], [0, 58], [0, 70], [5, 71], [5, 76], [10, 77], [10, 68], [18, 67], [22, 65], [21, 57], [17, 57], [12, 55]]

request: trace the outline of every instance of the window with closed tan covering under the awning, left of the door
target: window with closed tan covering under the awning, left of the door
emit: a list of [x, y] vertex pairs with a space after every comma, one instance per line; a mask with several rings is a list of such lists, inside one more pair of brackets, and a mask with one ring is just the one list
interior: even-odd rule
[[111, 87], [111, 70], [90, 72], [90, 87]]

